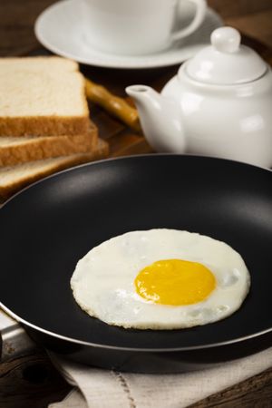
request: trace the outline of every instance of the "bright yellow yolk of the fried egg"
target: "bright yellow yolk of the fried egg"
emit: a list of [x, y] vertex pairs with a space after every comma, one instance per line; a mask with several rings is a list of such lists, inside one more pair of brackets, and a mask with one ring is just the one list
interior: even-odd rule
[[163, 259], [141, 269], [134, 284], [138, 295], [146, 300], [183, 306], [206, 299], [216, 287], [216, 279], [199, 262]]

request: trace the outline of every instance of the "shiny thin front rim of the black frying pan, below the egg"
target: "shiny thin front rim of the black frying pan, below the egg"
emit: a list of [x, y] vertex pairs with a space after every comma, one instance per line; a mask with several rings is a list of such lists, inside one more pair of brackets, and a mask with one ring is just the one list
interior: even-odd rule
[[[24, 320], [22, 317], [17, 316], [12, 310], [10, 310], [8, 307], [6, 307], [2, 302], [0, 302], [0, 307], [7, 313], [9, 316], [13, 317], [17, 322], [27, 325], [34, 330], [43, 333], [44, 335], [51, 335], [56, 339], [63, 340], [69, 343], [73, 343], [75, 345], [87, 345], [89, 347], [96, 347], [96, 348], [102, 348], [102, 349], [107, 349], [107, 350], [115, 350], [115, 351], [128, 351], [128, 352], [137, 352], [137, 353], [176, 353], [176, 352], [188, 352], [188, 351], [194, 351], [194, 350], [204, 350], [204, 349], [210, 349], [210, 348], [215, 348], [215, 347], [220, 347], [224, 345], [235, 345], [253, 338], [256, 338], [260, 335], [267, 335], [267, 333], [272, 332], [272, 327], [269, 327], [266, 330], [262, 330], [257, 333], [253, 333], [251, 335], [244, 335], [242, 337], [238, 337], [232, 340], [227, 340], [224, 342], [219, 342], [219, 343], [210, 343], [209, 345], [192, 345], [192, 346], [181, 346], [181, 347], [165, 347], [165, 348], [150, 348], [150, 347], [127, 347], [127, 346], [117, 346], [117, 345], [102, 345], [102, 344], [97, 344], [97, 343], [92, 343], [92, 342], [86, 342], [83, 340], [79, 340], [76, 338], [72, 337], [67, 337], [66, 335], [59, 335], [57, 333], [51, 332], [50, 330], [46, 330], [43, 327], [39, 327], [38, 325], [34, 325], [33, 323], [28, 322], [27, 320]], [[126, 330], [126, 329], [123, 329]], [[182, 329], [180, 329], [182, 330]]]

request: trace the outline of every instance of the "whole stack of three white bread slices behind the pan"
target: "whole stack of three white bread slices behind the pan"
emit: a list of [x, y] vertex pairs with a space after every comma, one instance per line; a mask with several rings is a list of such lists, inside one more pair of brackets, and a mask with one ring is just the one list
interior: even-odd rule
[[55, 171], [102, 159], [79, 66], [60, 57], [0, 59], [0, 199]]

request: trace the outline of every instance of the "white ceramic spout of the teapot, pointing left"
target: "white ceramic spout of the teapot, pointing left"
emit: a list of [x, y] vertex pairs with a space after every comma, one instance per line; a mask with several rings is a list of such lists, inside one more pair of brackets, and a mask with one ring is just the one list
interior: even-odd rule
[[141, 128], [152, 149], [183, 153], [186, 141], [178, 103], [145, 85], [128, 86], [126, 92], [136, 104]]

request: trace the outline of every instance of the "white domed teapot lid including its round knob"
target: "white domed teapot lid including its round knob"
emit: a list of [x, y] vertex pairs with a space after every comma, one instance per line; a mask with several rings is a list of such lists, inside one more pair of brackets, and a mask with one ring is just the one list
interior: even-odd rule
[[186, 63], [186, 72], [192, 79], [200, 83], [231, 85], [254, 81], [267, 71], [262, 58], [240, 44], [241, 36], [235, 28], [217, 28], [210, 41], [211, 45]]

